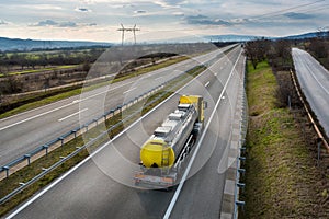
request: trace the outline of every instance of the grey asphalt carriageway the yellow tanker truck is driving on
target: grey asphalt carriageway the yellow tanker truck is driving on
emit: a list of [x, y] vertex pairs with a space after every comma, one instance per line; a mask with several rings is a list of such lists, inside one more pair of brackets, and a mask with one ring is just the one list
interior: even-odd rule
[[[8, 217], [162, 218], [173, 197], [178, 197], [173, 208], [169, 209], [170, 218], [218, 218], [227, 161], [223, 154], [231, 139], [239, 76], [245, 70], [243, 59], [240, 47], [218, 58], [209, 70], [185, 84]], [[188, 181], [178, 196], [174, 196], [178, 189], [135, 188], [133, 175], [139, 169], [139, 148], [177, 107], [180, 94], [200, 94], [208, 102], [205, 111], [207, 129], [203, 141], [197, 143], [200, 149]]]

